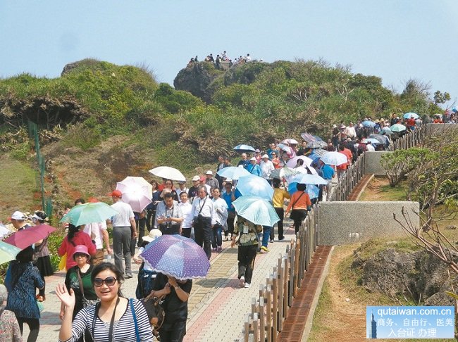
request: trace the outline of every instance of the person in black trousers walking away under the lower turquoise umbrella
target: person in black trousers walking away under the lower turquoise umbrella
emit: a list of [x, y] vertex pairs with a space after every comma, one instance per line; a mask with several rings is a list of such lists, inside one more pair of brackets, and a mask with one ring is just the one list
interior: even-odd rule
[[232, 236], [231, 247], [235, 246], [235, 237], [239, 235], [238, 240], [238, 279], [240, 286], [248, 288], [252, 284], [254, 259], [259, 246], [258, 234], [262, 232], [262, 226], [246, 220], [244, 217], [238, 217]]

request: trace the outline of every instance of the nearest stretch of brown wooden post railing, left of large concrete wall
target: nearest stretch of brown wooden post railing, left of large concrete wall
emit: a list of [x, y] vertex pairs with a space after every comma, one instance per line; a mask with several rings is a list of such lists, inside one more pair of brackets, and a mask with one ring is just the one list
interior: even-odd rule
[[278, 341], [283, 321], [297, 295], [302, 279], [307, 277], [311, 257], [318, 241], [318, 208], [311, 208], [297, 238], [291, 239], [276, 267], [259, 287], [259, 297], [252, 298], [252, 312], [245, 316], [241, 341]]

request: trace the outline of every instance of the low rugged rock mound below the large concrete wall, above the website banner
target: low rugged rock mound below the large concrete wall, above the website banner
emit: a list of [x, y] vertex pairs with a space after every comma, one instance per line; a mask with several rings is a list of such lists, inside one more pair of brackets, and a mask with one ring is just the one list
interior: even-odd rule
[[361, 285], [371, 292], [384, 293], [390, 298], [407, 298], [426, 305], [453, 305], [445, 294], [456, 289], [458, 277], [448, 275], [448, 266], [426, 251], [404, 252], [388, 248], [367, 260], [355, 251], [352, 268], [362, 271]]

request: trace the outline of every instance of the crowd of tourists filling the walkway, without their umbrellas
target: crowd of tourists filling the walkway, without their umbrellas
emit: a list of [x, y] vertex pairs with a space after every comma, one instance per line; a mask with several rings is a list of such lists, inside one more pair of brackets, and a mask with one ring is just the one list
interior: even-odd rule
[[[285, 217], [290, 216], [297, 233], [311, 205], [323, 201], [328, 191], [325, 184], [316, 184], [316, 196], [310, 195], [306, 184], [297, 184], [291, 191], [288, 177], [276, 170], [290, 166], [296, 172], [319, 175], [330, 183], [345, 172], [359, 153], [383, 148], [383, 144], [374, 147], [367, 140], [372, 134], [385, 136], [390, 143], [395, 133], [401, 137], [421, 124], [414, 116], [397, 118], [393, 115], [390, 120], [374, 121], [364, 118], [355, 124], [333, 125], [327, 141], [305, 134], [300, 144], [295, 139], [284, 139], [271, 141], [262, 150], [253, 148], [252, 153], [242, 152], [234, 166], [265, 179], [273, 188], [271, 204], [280, 219], [276, 228], [237, 215], [233, 203], [242, 196], [237, 189], [237, 180], [218, 175], [225, 167], [233, 166], [230, 156], [219, 156], [213, 170], [194, 175], [189, 184], [168, 178], [161, 182], [151, 180], [151, 203], [139, 213], [123, 201], [120, 190], [111, 191], [108, 196], [116, 215], [102, 222], [66, 224], [66, 236], [58, 248], [61, 268], [66, 270], [65, 281], [56, 289], [61, 300], [59, 341], [130, 341], [131, 336], [137, 336], [137, 341], [153, 341], [158, 334], [163, 342], [182, 341], [186, 334], [187, 300], [192, 279], [175, 279], [145, 263], [141, 253], [151, 241], [163, 235], [185, 236], [202, 247], [208, 259], [213, 253], [223, 251], [223, 241], [230, 241], [231, 247], [237, 245], [240, 286], [248, 288], [256, 255], [269, 253], [268, 243], [285, 239]], [[402, 125], [404, 129], [389, 134], [388, 129], [394, 125]], [[311, 144], [317, 141], [321, 147]], [[337, 151], [347, 162], [323, 163], [323, 151]], [[300, 156], [307, 156], [311, 162], [304, 163]], [[291, 165], [291, 161], [295, 165]], [[97, 200], [91, 198], [89, 202]], [[75, 208], [84, 204], [82, 198], [75, 200]], [[11, 215], [15, 231], [46, 222], [47, 215], [42, 211], [33, 215], [16, 211]], [[109, 226], [113, 229], [112, 245]], [[111, 254], [114, 264], [107, 262], [107, 255]], [[140, 270], [136, 298], [128, 299], [123, 297], [121, 286], [133, 277], [132, 260], [140, 264]], [[6, 341], [21, 341], [25, 323], [30, 328], [27, 341], [37, 341], [40, 303], [46, 300], [45, 277], [51, 274], [47, 239], [24, 248], [16, 255], [16, 260], [10, 262], [5, 279], [7, 299], [6, 289], [0, 286], [1, 303], [7, 301], [6, 310], [1, 313], [0, 339], [10, 336]], [[163, 300], [165, 316], [160, 325], [148, 298]], [[1, 329], [4, 327], [11, 329]]]

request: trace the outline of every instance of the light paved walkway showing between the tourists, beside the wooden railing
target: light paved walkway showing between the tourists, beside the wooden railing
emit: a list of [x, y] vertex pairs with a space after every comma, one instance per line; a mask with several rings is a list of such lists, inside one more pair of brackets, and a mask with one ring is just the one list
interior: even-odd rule
[[[287, 222], [290, 222], [287, 220]], [[285, 222], [286, 223], [286, 222]], [[256, 255], [252, 286], [242, 289], [237, 279], [237, 248], [230, 248], [230, 241], [223, 242], [223, 251], [213, 253], [207, 279], [194, 281], [189, 299], [189, 317], [185, 341], [236, 341], [242, 337], [245, 314], [251, 311], [252, 298], [259, 296], [259, 285], [266, 283], [278, 256], [285, 253], [294, 229], [285, 224], [285, 240], [269, 243], [270, 253]], [[132, 264], [134, 277], [123, 284], [123, 294], [135, 298], [138, 265]], [[56, 284], [63, 282], [65, 272], [47, 277], [47, 300], [40, 319], [38, 341], [57, 341], [61, 321], [58, 318], [60, 302], [56, 296]], [[24, 336], [28, 336], [25, 325]]]

